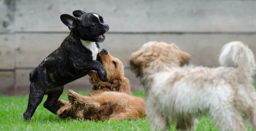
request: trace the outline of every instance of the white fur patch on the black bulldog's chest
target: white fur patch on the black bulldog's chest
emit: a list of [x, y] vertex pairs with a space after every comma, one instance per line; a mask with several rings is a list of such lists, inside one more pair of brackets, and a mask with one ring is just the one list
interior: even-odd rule
[[85, 48], [87, 48], [88, 50], [90, 50], [92, 52], [92, 59], [96, 60], [97, 54], [99, 52], [99, 48], [97, 47], [97, 45], [95, 44], [95, 42], [90, 42], [90, 41], [86, 41], [86, 40], [82, 40], [80, 39], [83, 46], [85, 46]]

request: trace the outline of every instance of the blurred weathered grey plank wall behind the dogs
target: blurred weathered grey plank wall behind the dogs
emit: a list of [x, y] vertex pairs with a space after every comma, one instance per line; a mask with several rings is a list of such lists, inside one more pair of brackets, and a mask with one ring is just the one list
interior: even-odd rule
[[[148, 41], [176, 43], [197, 66], [218, 66], [222, 45], [234, 40], [256, 53], [254, 0], [0, 0], [0, 94], [29, 92], [29, 72], [69, 34], [60, 15], [74, 10], [104, 17], [100, 49], [123, 62], [132, 90], [141, 86], [128, 57]], [[92, 87], [85, 76], [64, 89]]]

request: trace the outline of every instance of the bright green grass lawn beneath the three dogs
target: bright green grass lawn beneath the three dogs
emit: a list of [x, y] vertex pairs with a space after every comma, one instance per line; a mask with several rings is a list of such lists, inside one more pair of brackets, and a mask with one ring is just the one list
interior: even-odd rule
[[[61, 95], [61, 99], [67, 100], [66, 91]], [[88, 92], [79, 92], [88, 94]], [[144, 91], [133, 92], [135, 96], [144, 96]], [[46, 96], [43, 101], [46, 100]], [[0, 96], [0, 130], [1, 131], [42, 131], [42, 130], [89, 130], [89, 131], [149, 131], [150, 126], [147, 118], [124, 121], [84, 121], [59, 119], [55, 114], [50, 113], [43, 107], [43, 102], [38, 106], [31, 122], [23, 120], [22, 113], [28, 104], [27, 96]], [[171, 130], [175, 130], [175, 124], [171, 125]], [[248, 129], [251, 131], [252, 129]], [[199, 118], [197, 131], [217, 131], [208, 116]]]

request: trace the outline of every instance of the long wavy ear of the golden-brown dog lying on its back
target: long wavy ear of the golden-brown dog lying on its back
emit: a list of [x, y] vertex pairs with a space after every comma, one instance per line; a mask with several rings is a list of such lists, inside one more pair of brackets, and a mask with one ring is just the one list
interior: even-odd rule
[[123, 92], [131, 95], [131, 85], [129, 79], [126, 77], [115, 79], [114, 84], [112, 84], [111, 91]]

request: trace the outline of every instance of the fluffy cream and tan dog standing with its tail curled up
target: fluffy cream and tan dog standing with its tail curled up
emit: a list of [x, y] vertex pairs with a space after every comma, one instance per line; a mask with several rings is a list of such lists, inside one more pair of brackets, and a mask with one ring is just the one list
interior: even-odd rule
[[[151, 130], [195, 129], [196, 117], [208, 114], [221, 131], [256, 127], [256, 66], [253, 52], [241, 42], [225, 44], [221, 67], [185, 66], [190, 55], [175, 44], [148, 42], [130, 56], [131, 69], [145, 88]], [[233, 63], [234, 67], [225, 67]]]

